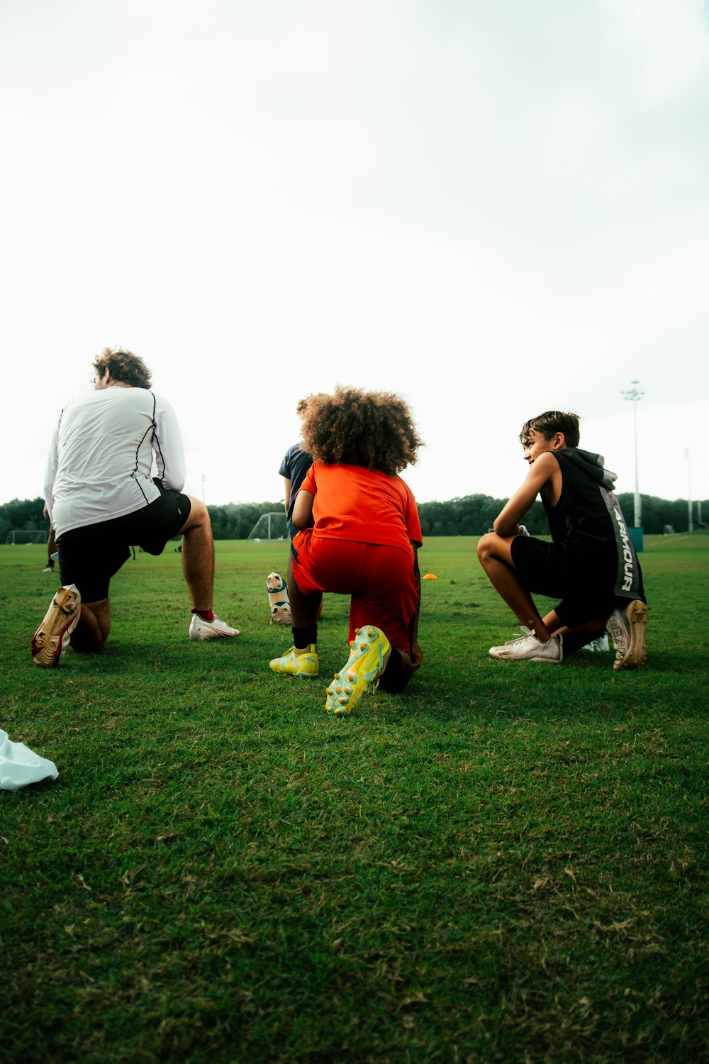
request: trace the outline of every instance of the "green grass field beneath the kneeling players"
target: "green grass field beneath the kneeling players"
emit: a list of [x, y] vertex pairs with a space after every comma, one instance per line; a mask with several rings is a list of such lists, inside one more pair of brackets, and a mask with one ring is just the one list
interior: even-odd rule
[[0, 727], [56, 782], [0, 792], [0, 1059], [709, 1057], [709, 537], [653, 538], [648, 662], [493, 661], [471, 538], [421, 552], [424, 664], [333, 718], [269, 672], [283, 544], [217, 544], [236, 641], [186, 638], [180, 556], [112, 586], [106, 652], [33, 668], [55, 589], [0, 547]]

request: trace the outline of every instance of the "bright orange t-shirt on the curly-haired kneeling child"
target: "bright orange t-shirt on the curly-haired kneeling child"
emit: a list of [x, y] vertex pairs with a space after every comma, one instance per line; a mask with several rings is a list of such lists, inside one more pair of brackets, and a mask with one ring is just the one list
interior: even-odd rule
[[314, 536], [410, 550], [421, 546], [416, 499], [401, 477], [361, 466], [313, 463], [302, 492], [311, 492]]

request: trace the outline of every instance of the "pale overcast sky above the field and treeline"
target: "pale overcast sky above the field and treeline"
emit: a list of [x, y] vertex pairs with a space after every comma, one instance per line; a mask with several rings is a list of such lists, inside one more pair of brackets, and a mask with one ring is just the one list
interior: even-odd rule
[[208, 503], [337, 383], [407, 398], [427, 501], [547, 409], [631, 492], [639, 381], [640, 491], [709, 497], [703, 0], [1, 0], [0, 59], [0, 502], [115, 344]]

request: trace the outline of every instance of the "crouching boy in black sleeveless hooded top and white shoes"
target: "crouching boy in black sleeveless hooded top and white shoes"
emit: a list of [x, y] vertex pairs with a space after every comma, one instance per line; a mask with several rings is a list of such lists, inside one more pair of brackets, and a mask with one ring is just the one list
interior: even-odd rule
[[[505, 661], [559, 663], [608, 628], [615, 669], [646, 659], [642, 572], [603, 458], [578, 448], [578, 416], [547, 411], [526, 421], [520, 440], [529, 472], [480, 537], [477, 555], [524, 635], [490, 654]], [[541, 495], [552, 543], [519, 521]], [[531, 595], [560, 601], [545, 617]]]

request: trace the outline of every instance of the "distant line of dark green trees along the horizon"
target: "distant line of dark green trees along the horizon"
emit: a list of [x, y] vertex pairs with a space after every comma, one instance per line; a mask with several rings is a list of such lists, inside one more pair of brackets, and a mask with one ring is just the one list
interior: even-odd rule
[[[632, 523], [632, 495], [618, 496], [623, 513]], [[642, 495], [642, 526], [647, 535], [661, 535], [665, 525], [675, 532], [687, 532], [688, 508], [686, 499], [657, 499]], [[492, 527], [492, 522], [506, 503], [506, 499], [493, 499], [489, 495], [465, 495], [448, 502], [420, 502], [421, 529], [423, 535], [482, 535]], [[0, 505], [0, 544], [13, 529], [48, 529], [43, 517], [43, 499], [13, 499]], [[215, 539], [246, 539], [261, 514], [283, 512], [282, 502], [230, 502], [224, 506], [207, 506], [212, 518]], [[694, 503], [694, 526], [698, 514], [704, 520], [709, 515], [709, 501]], [[535, 502], [525, 518], [525, 525], [533, 535], [544, 535], [548, 529], [539, 500]]]

